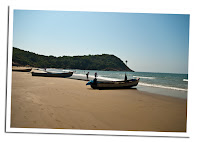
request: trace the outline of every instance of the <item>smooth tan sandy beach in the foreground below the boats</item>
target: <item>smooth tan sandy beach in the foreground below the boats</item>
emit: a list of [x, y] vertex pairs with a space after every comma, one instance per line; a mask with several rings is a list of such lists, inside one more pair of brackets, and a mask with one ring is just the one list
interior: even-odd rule
[[186, 132], [186, 118], [185, 99], [12, 72], [11, 127]]

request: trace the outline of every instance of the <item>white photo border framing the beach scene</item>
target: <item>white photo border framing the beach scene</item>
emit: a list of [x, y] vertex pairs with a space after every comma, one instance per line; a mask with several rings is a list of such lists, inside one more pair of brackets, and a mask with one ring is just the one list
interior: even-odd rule
[[[152, 14], [189, 14], [188, 11], [183, 10], [148, 10], [145, 9], [124, 9], [115, 8], [80, 8], [65, 6], [9, 6], [9, 38], [8, 38], [8, 61], [7, 61], [7, 102], [6, 102], [6, 132], [23, 132], [23, 133], [44, 133], [44, 134], [85, 134], [85, 135], [112, 135], [112, 136], [152, 136], [152, 137], [183, 137], [190, 136], [190, 128], [187, 127], [186, 132], [151, 132], [151, 131], [115, 131], [115, 130], [78, 130], [78, 129], [43, 129], [43, 128], [11, 128], [11, 88], [12, 88], [12, 46], [13, 46], [13, 13], [14, 10], [53, 10], [53, 11], [87, 11], [87, 12], [126, 12], [126, 13], [152, 13]], [[159, 11], [159, 12], [158, 12]], [[189, 92], [189, 91], [188, 91]], [[189, 96], [189, 95], [188, 95]], [[188, 110], [188, 107], [187, 107]], [[188, 111], [187, 111], [188, 112]], [[187, 115], [188, 118], [189, 115]], [[187, 126], [189, 121], [187, 119]]]

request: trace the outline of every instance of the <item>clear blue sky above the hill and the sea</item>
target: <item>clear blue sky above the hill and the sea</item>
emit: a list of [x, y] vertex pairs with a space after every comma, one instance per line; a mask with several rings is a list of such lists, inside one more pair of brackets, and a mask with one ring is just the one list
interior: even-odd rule
[[13, 46], [41, 55], [113, 54], [134, 71], [188, 73], [189, 15], [14, 10]]

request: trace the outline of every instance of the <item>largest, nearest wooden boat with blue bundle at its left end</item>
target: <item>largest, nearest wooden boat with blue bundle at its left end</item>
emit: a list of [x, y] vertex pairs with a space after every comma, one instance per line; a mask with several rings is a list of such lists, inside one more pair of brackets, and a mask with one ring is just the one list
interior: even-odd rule
[[97, 81], [91, 80], [86, 85], [91, 85], [93, 89], [120, 89], [137, 86], [140, 78], [126, 81]]

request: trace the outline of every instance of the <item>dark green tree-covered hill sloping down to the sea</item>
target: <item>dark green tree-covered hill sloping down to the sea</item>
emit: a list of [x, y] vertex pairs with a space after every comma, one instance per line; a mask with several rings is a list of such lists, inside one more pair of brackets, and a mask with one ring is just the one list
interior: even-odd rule
[[44, 56], [13, 47], [13, 64], [38, 68], [132, 71], [115, 55]]

